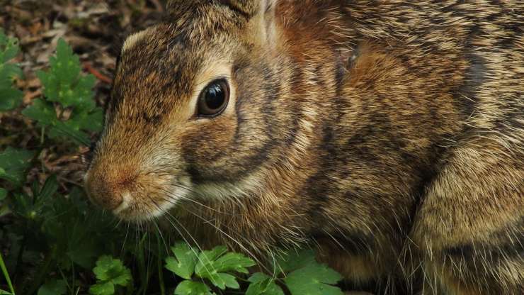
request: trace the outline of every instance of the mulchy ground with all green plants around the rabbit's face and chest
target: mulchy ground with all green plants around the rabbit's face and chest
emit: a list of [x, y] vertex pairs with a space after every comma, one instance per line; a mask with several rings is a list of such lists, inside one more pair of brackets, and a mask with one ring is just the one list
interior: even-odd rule
[[121, 224], [87, 201], [81, 155], [102, 128], [115, 52], [161, 1], [0, 7], [0, 294], [342, 294], [311, 250], [257, 272], [250, 257]]

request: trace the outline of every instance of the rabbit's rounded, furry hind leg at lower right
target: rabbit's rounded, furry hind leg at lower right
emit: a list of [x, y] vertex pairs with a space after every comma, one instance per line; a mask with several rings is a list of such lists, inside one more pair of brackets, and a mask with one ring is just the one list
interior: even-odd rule
[[411, 231], [423, 294], [524, 294], [523, 161], [519, 147], [478, 138], [443, 165]]

